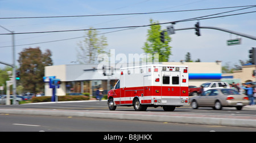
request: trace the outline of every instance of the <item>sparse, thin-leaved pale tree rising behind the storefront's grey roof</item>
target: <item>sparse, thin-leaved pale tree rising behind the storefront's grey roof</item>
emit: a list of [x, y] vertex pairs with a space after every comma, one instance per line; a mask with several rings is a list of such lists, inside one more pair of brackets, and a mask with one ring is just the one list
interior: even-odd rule
[[[92, 29], [92, 28], [90, 28]], [[97, 37], [96, 30], [86, 32], [84, 41], [79, 42], [77, 49], [77, 62], [79, 63], [96, 63], [98, 54], [108, 54], [105, 51], [108, 43], [104, 35]]]

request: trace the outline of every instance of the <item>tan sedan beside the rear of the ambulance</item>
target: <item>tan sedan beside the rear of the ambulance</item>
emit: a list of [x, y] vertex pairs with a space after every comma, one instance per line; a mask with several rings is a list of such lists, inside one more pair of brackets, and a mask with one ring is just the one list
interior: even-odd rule
[[236, 107], [242, 110], [243, 106], [249, 105], [249, 98], [237, 92], [234, 89], [210, 89], [200, 94], [200, 96], [191, 98], [192, 109], [200, 106], [213, 107], [213, 109], [221, 110], [222, 107]]

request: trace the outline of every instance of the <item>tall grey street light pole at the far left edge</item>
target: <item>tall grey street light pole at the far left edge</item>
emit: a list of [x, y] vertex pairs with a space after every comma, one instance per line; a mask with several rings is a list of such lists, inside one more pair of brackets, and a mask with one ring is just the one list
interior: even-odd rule
[[[0, 27], [2, 27], [0, 25]], [[6, 29], [5, 27], [2, 27], [3, 29]], [[6, 29], [6, 31], [9, 31], [9, 29]], [[9, 31], [12, 35], [12, 40], [13, 40], [13, 65], [11, 67], [13, 67], [13, 96], [14, 99], [16, 98], [16, 64], [15, 64], [15, 39], [14, 39], [14, 31]], [[0, 62], [3, 63], [3, 62]], [[5, 63], [3, 63], [5, 64]], [[10, 64], [6, 64], [7, 66], [10, 66]], [[15, 104], [15, 100], [13, 100], [13, 104]]]

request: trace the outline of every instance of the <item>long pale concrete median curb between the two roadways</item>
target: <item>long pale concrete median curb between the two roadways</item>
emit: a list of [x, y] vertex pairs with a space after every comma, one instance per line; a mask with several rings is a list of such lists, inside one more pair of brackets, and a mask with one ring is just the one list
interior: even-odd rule
[[207, 118], [195, 116], [168, 116], [168, 115], [143, 115], [143, 114], [123, 114], [112, 112], [92, 112], [92, 111], [60, 111], [60, 110], [19, 110], [19, 109], [0, 109], [2, 114], [18, 115], [46, 115], [46, 116], [77, 116], [88, 118], [104, 119], [123, 119], [123, 120], [144, 120], [152, 122], [170, 122], [186, 124], [207, 124], [207, 125], [226, 125], [235, 127], [254, 127], [254, 119], [230, 119], [230, 118]]

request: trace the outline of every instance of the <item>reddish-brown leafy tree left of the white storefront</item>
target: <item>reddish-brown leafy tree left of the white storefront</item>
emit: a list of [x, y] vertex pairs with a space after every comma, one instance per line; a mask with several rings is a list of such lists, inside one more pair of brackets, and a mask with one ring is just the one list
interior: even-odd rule
[[24, 90], [36, 93], [44, 89], [44, 67], [52, 65], [51, 51], [42, 53], [39, 47], [29, 47], [19, 53], [20, 83]]

